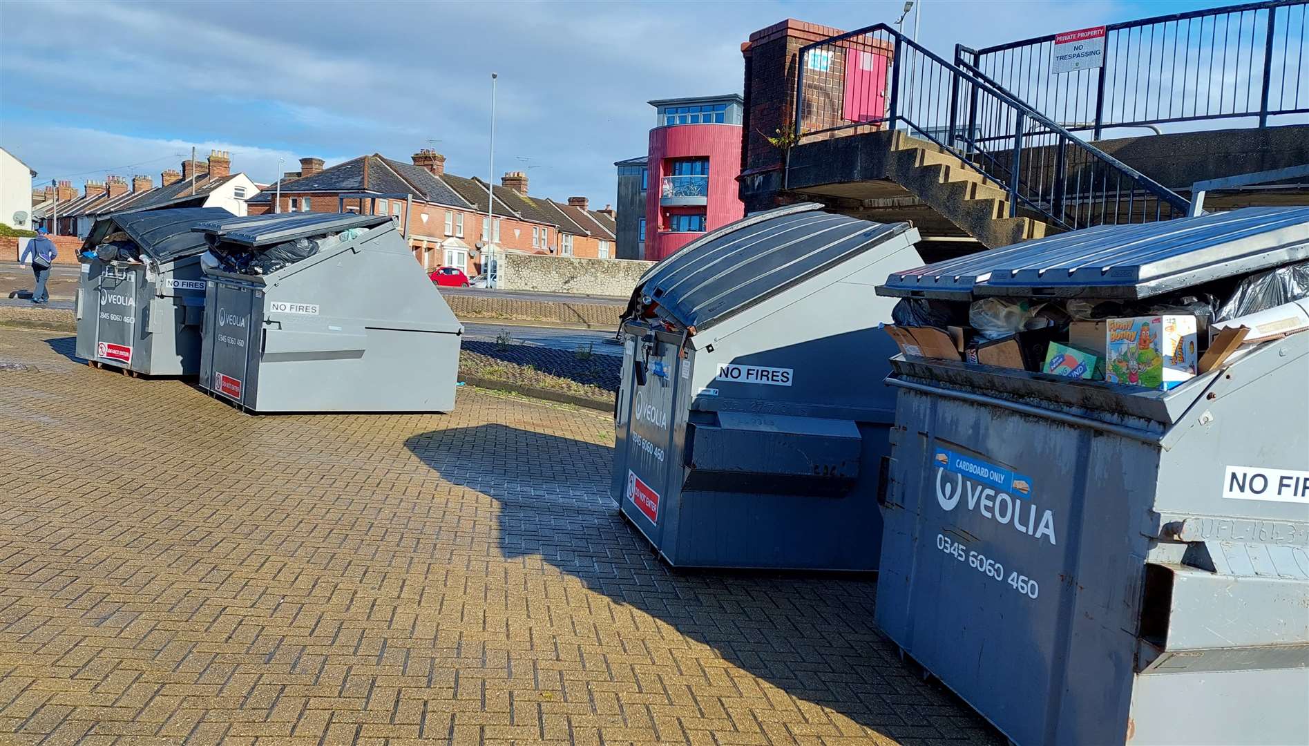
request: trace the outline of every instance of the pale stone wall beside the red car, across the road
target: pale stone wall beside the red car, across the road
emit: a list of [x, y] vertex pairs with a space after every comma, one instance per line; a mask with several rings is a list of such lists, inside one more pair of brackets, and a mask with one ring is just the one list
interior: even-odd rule
[[504, 291], [630, 297], [636, 281], [654, 263], [636, 259], [579, 259], [543, 254], [500, 254]]

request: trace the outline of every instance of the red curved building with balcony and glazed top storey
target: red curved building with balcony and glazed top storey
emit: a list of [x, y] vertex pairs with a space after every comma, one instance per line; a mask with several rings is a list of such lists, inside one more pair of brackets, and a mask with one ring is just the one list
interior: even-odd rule
[[738, 196], [742, 98], [651, 101], [658, 126], [647, 158], [644, 259], [660, 260], [745, 216]]

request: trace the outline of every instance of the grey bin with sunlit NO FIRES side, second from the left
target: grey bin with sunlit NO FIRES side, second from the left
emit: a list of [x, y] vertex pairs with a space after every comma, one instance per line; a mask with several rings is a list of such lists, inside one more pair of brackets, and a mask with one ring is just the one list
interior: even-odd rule
[[237, 260], [321, 245], [263, 275], [206, 263], [202, 387], [253, 412], [454, 408], [463, 329], [389, 217], [260, 215], [198, 230]]

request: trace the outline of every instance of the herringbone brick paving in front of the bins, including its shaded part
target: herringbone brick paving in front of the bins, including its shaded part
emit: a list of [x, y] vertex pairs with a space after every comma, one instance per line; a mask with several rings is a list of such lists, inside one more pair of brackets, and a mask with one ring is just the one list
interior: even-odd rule
[[253, 417], [71, 355], [0, 330], [0, 743], [997, 741], [872, 582], [665, 571], [602, 415]]

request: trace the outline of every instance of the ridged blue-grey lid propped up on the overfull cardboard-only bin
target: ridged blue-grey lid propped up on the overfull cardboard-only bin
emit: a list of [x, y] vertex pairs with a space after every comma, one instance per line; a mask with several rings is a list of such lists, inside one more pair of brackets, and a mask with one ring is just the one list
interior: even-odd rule
[[1100, 225], [895, 272], [881, 296], [1140, 300], [1309, 258], [1309, 207]]

